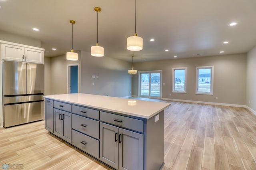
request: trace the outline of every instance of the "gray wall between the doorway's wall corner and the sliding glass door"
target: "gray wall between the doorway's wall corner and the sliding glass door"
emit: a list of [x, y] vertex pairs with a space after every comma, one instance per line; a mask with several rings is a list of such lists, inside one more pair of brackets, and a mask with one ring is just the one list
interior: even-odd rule
[[[132, 75], [128, 69], [132, 64], [110, 57], [92, 57], [81, 51], [81, 93], [128, 97], [132, 91]], [[92, 78], [95, 75], [95, 78]], [[96, 76], [99, 78], [96, 78]]]

